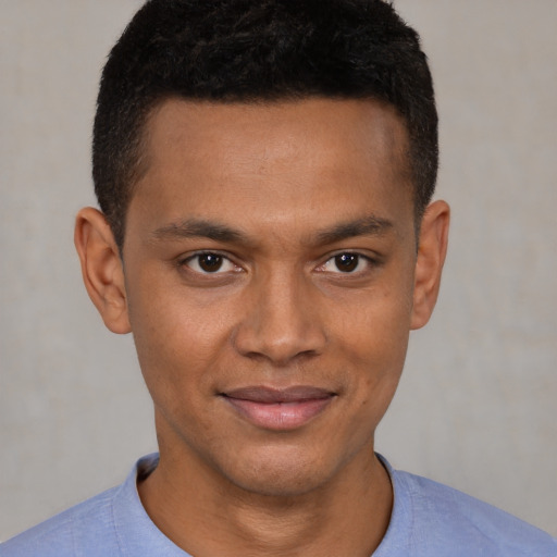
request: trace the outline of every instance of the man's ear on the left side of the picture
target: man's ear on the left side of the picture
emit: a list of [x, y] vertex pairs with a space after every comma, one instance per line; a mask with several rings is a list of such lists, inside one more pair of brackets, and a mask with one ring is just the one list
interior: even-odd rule
[[129, 333], [124, 268], [104, 215], [87, 207], [75, 219], [74, 243], [85, 287], [107, 327]]

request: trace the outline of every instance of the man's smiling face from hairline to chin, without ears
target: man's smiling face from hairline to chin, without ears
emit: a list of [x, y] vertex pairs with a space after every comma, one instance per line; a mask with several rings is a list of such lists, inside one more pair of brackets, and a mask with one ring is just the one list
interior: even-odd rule
[[151, 115], [123, 260], [161, 462], [295, 494], [369, 458], [412, 326], [406, 141], [372, 101]]

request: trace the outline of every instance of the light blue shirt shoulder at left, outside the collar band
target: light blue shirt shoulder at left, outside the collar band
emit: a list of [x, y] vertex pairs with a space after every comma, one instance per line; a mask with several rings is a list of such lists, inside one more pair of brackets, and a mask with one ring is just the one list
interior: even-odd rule
[[116, 555], [112, 500], [117, 491], [103, 492], [0, 544], [0, 557]]

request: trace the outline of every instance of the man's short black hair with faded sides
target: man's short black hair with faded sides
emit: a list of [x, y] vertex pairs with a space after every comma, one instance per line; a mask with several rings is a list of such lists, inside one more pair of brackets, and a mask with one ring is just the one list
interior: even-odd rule
[[95, 191], [122, 250], [149, 114], [170, 98], [374, 99], [396, 109], [419, 222], [437, 174], [437, 112], [418, 34], [382, 0], [150, 0], [110, 52], [92, 143]]

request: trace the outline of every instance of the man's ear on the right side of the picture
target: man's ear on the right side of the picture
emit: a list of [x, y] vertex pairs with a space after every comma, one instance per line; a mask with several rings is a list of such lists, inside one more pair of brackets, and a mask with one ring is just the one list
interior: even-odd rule
[[435, 201], [425, 209], [422, 218], [414, 272], [412, 330], [428, 323], [437, 301], [447, 252], [449, 215], [448, 205]]

